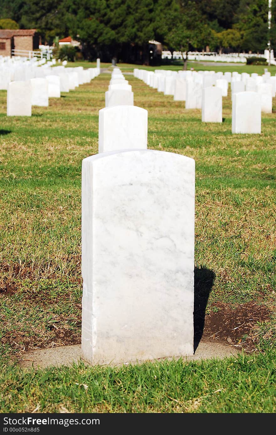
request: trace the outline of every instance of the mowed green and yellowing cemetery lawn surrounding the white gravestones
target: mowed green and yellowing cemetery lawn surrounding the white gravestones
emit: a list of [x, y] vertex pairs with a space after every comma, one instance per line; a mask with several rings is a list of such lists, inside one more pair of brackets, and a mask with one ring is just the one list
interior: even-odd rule
[[110, 75], [50, 99], [47, 108], [33, 107], [32, 117], [7, 117], [0, 91], [0, 409], [275, 412], [276, 100], [274, 113], [262, 117], [262, 134], [233, 135], [230, 91], [223, 123], [203, 124], [200, 110], [126, 79], [134, 104], [149, 113], [148, 147], [196, 161], [195, 265], [215, 277], [206, 313], [267, 307], [271, 321], [240, 337], [262, 353], [25, 374], [13, 366], [28, 348], [80, 342], [81, 162], [97, 153]]

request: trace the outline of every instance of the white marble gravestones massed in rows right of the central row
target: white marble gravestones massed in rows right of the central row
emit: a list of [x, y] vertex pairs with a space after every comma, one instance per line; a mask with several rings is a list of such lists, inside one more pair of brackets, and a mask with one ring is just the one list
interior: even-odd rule
[[[222, 122], [223, 97], [227, 97], [230, 84], [233, 133], [260, 133], [261, 112], [272, 113], [272, 98], [276, 95], [276, 76], [271, 77], [267, 71], [262, 76], [256, 73], [250, 76], [236, 71], [224, 74], [191, 70], [153, 72], [134, 68], [133, 75], [158, 92], [173, 95], [174, 101], [185, 101], [186, 109], [201, 109], [202, 122]], [[243, 95], [237, 100], [238, 93]], [[250, 106], [247, 106], [249, 99]]]

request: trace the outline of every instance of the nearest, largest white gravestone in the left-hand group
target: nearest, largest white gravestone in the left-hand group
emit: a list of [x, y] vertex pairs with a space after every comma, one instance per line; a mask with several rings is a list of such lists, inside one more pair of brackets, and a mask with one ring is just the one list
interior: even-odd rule
[[32, 87], [29, 81], [10, 82], [7, 87], [7, 116], [32, 115]]

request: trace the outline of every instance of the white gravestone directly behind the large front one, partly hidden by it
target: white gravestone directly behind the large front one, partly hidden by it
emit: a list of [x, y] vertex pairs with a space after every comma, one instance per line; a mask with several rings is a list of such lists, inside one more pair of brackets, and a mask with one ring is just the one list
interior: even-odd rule
[[99, 110], [99, 153], [147, 148], [148, 112], [137, 106]]

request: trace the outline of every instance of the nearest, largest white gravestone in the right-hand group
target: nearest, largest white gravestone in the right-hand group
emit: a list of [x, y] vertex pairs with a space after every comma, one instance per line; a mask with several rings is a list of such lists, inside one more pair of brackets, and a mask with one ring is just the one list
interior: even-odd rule
[[261, 133], [261, 96], [257, 92], [233, 94], [232, 133]]

